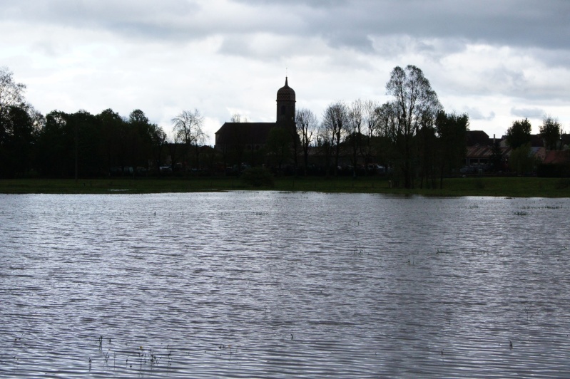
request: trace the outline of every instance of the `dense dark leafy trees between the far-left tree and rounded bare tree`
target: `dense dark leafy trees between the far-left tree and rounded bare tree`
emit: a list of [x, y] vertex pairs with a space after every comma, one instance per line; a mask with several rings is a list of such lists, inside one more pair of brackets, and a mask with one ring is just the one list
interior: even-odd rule
[[134, 175], [160, 167], [165, 145], [166, 133], [141, 110], [128, 118], [54, 110], [35, 136], [35, 168], [49, 177]]

